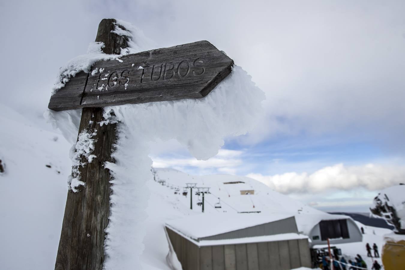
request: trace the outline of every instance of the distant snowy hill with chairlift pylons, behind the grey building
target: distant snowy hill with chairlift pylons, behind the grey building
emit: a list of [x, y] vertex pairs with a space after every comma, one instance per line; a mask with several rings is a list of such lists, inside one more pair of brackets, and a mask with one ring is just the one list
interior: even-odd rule
[[[196, 183], [197, 187], [209, 187], [209, 194], [205, 195], [205, 212], [268, 212], [268, 213], [308, 213], [320, 214], [324, 213], [311, 206], [307, 206], [301, 202], [291, 199], [290, 197], [278, 193], [268, 186], [254, 179], [245, 176], [215, 174], [206, 176], [192, 176], [178, 170], [170, 168], [157, 168], [156, 180], [165, 180], [166, 189], [173, 187], [180, 188], [180, 193], [183, 192], [183, 187], [186, 183]], [[243, 182], [224, 184], [229, 182]], [[254, 190], [254, 195], [241, 195], [241, 191]], [[202, 199], [202, 196], [196, 196], [196, 190], [193, 190], [193, 208], [197, 212], [201, 212], [201, 207], [196, 203]], [[174, 194], [175, 190], [173, 190]], [[190, 196], [187, 198], [178, 195], [182, 204], [190, 206]], [[222, 208], [215, 208], [215, 203], [219, 202], [220, 198]]]

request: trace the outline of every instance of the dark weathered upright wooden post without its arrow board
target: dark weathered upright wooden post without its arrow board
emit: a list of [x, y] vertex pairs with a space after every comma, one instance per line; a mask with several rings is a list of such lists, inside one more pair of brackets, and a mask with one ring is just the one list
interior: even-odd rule
[[[103, 19], [98, 29], [96, 41], [106, 44], [103, 48], [106, 52], [126, 44], [119, 36], [109, 32], [114, 23], [113, 19]], [[68, 191], [55, 270], [101, 270], [103, 267], [104, 229], [109, 222], [111, 194], [111, 175], [103, 164], [114, 162], [111, 152], [116, 140], [116, 124], [100, 127], [98, 123], [104, 120], [102, 113], [102, 108], [83, 108], [82, 111], [79, 134], [83, 130], [96, 133], [92, 153], [96, 158], [92, 163], [79, 167], [85, 187], [79, 187], [78, 192]]]

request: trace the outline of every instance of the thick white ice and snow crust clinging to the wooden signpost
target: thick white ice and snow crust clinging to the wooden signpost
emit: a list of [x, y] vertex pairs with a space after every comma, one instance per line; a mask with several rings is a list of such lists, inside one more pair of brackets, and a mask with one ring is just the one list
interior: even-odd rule
[[[130, 37], [129, 47], [122, 49], [122, 54], [158, 47], [129, 23], [117, 20], [117, 24], [126, 30], [117, 26], [113, 32]], [[81, 70], [90, 72], [91, 65], [98, 60], [117, 58], [117, 55], [101, 53], [101, 46], [91, 44], [87, 55], [70, 61], [62, 69], [54, 89], [63, 87], [70, 77]], [[247, 72], [234, 66], [228, 77], [205, 98], [104, 108], [105, 121], [100, 125], [118, 121], [118, 138], [113, 153], [115, 163], [104, 164], [113, 176], [111, 215], [104, 243], [104, 269], [141, 269], [139, 256], [144, 249], [145, 208], [149, 198], [149, 189], [145, 184], [152, 179], [152, 160], [148, 156], [150, 143], [176, 139], [197, 159], [209, 159], [224, 145], [225, 136], [245, 134], [254, 128], [256, 119], [262, 113], [261, 102], [264, 98], [264, 92], [256, 87]], [[111, 112], [115, 116], [112, 117]], [[68, 140], [73, 140], [73, 134], [77, 134], [79, 115], [80, 111], [77, 110], [45, 113], [45, 117]], [[72, 162], [77, 164], [75, 156]], [[81, 184], [73, 180], [71, 185]], [[175, 261], [176, 256], [169, 254], [167, 259], [168, 264], [176, 269], [179, 265]]]

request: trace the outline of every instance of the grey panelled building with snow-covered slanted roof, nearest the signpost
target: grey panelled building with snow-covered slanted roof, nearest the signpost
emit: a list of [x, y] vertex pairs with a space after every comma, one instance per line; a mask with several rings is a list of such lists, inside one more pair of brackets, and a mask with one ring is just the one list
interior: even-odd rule
[[204, 214], [166, 223], [183, 270], [311, 267], [308, 236], [286, 214]]

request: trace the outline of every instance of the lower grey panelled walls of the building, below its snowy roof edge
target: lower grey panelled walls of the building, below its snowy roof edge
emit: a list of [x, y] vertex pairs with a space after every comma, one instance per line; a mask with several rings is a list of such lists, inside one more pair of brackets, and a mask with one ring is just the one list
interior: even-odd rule
[[166, 228], [183, 270], [288, 270], [311, 267], [307, 239], [198, 248]]

